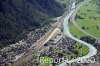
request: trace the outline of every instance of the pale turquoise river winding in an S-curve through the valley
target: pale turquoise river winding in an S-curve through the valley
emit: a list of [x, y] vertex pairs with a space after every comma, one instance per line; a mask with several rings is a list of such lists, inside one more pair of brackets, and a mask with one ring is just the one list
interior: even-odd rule
[[[90, 1], [90, 0], [84, 1], [82, 4], [84, 4], [84, 3], [86, 3], [86, 2], [89, 2], [89, 1]], [[72, 5], [72, 9], [73, 9], [73, 8], [75, 8], [75, 2], [74, 2], [73, 5]], [[92, 57], [92, 56], [94, 56], [94, 55], [97, 54], [97, 49], [96, 49], [94, 46], [92, 46], [92, 45], [90, 45], [90, 44], [88, 44], [88, 43], [86, 43], [86, 42], [84, 42], [84, 41], [82, 41], [82, 40], [80, 40], [80, 39], [77, 39], [77, 38], [73, 37], [73, 36], [71, 35], [71, 33], [69, 32], [69, 28], [68, 28], [68, 19], [72, 16], [72, 14], [73, 14], [74, 12], [75, 12], [75, 9], [71, 10], [70, 13], [69, 13], [69, 14], [65, 17], [65, 19], [64, 19], [64, 22], [63, 22], [64, 34], [65, 34], [66, 36], [68, 36], [68, 37], [70, 37], [70, 38], [76, 40], [77, 42], [80, 42], [81, 44], [87, 46], [87, 47], [89, 48], [89, 53], [88, 53], [87, 55], [83, 56], [83, 57], [78, 57], [78, 58], [73, 59], [73, 60], [69, 60], [69, 61], [65, 60], [65, 62], [63, 62], [62, 64], [60, 64], [60, 65], [58, 65], [58, 66], [67, 66], [67, 63], [70, 64], [70, 63], [73, 63], [73, 62], [82, 61], [82, 60], [84, 60], [84, 59], [90, 58], [90, 57]]]

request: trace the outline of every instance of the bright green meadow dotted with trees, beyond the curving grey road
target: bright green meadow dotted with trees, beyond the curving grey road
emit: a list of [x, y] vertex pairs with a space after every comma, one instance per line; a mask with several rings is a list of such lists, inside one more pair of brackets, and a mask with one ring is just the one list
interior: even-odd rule
[[[78, 17], [76, 18], [76, 23], [82, 29], [93, 36], [100, 38], [100, 9], [95, 2], [87, 3], [82, 6], [76, 17]], [[77, 34], [76, 31], [74, 33]]]

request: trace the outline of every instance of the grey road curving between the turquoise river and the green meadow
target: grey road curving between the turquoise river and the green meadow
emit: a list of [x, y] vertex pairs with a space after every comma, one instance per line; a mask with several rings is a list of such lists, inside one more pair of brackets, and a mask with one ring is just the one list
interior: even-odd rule
[[[85, 3], [86, 3], [86, 2], [85, 2]], [[78, 11], [78, 10], [80, 9], [80, 7], [81, 7], [83, 4], [85, 4], [85, 3], [81, 3], [81, 4], [75, 9], [75, 12], [74, 12], [73, 15], [72, 15], [72, 23], [73, 23], [81, 32], [83, 32], [83, 33], [85, 33], [86, 35], [91, 36], [91, 37], [93, 37], [93, 38], [95, 38], [95, 39], [97, 39], [97, 40], [100, 40], [99, 38], [93, 36], [92, 34], [89, 34], [88, 32], [84, 31], [84, 30], [83, 30], [81, 27], [79, 27], [79, 26], [77, 25], [77, 23], [75, 22], [75, 16], [76, 16], [76, 14], [77, 14], [77, 11]]]

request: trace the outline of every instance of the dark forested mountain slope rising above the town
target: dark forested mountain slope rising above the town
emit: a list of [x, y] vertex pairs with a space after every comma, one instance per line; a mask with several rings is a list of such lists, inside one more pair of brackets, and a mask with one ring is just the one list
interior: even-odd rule
[[25, 38], [65, 10], [65, 2], [57, 0], [0, 0], [0, 47]]

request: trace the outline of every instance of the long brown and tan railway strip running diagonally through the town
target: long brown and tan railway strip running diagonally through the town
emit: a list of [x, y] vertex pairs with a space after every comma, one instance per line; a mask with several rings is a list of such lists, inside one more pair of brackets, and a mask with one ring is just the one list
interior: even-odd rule
[[61, 17], [60, 20], [53, 25], [53, 28], [51, 28], [42, 38], [40, 38], [40, 40], [35, 43], [35, 47], [34, 45], [31, 46], [27, 53], [25, 53], [21, 58], [19, 58], [19, 60], [15, 61], [13, 63], [13, 66], [19, 66], [23, 63], [28, 62], [33, 57], [32, 53], [37, 53], [38, 51], [40, 51], [43, 48], [44, 44], [46, 44], [52, 37], [57, 34], [60, 29], [59, 27], [62, 22], [62, 19], [63, 17]]

